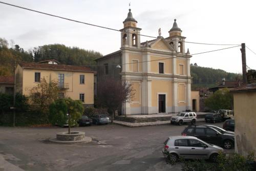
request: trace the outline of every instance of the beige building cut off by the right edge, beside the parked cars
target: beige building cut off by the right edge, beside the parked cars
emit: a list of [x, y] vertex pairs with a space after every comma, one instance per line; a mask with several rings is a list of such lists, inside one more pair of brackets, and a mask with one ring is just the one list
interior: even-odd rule
[[234, 96], [235, 150], [247, 156], [256, 153], [256, 71], [248, 70], [248, 83], [230, 92]]

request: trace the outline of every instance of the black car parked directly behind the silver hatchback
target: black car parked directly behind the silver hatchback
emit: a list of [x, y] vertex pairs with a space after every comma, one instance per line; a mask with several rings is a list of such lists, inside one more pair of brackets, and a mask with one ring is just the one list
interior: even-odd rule
[[194, 136], [207, 143], [223, 146], [230, 149], [234, 146], [234, 135], [221, 133], [211, 126], [189, 125], [181, 133], [183, 136]]

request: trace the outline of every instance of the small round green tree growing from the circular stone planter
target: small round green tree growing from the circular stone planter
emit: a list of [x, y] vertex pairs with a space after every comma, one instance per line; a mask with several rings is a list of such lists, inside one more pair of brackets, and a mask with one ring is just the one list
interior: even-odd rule
[[56, 123], [64, 125], [68, 121], [70, 134], [70, 126], [77, 124], [77, 120], [81, 118], [83, 111], [83, 104], [80, 100], [57, 99], [50, 105], [49, 120], [53, 125]]

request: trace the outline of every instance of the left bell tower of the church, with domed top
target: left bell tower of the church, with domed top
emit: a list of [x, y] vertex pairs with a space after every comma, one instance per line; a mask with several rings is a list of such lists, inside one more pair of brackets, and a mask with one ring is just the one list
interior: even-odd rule
[[137, 21], [129, 9], [127, 18], [123, 21], [121, 29], [121, 47], [140, 47], [140, 28], [137, 28]]

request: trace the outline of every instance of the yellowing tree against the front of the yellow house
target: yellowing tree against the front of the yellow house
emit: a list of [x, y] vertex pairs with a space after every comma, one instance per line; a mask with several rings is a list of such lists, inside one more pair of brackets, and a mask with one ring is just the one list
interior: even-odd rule
[[58, 99], [58, 83], [54, 80], [49, 83], [45, 78], [41, 78], [40, 82], [30, 90], [30, 102], [35, 110], [41, 111], [47, 115], [50, 104]]

